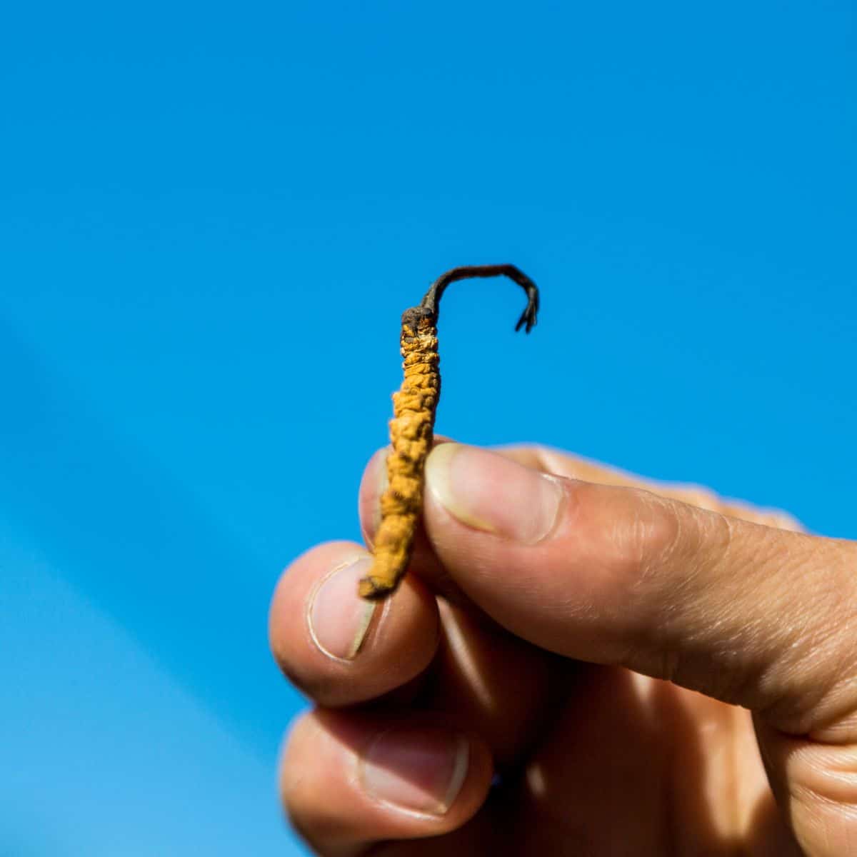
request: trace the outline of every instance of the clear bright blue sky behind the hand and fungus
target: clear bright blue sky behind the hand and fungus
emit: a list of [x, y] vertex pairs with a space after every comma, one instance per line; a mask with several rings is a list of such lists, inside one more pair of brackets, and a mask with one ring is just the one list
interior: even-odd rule
[[0, 854], [303, 853], [267, 602], [447, 267], [542, 317], [449, 291], [443, 433], [857, 535], [852, 3], [3, 19]]

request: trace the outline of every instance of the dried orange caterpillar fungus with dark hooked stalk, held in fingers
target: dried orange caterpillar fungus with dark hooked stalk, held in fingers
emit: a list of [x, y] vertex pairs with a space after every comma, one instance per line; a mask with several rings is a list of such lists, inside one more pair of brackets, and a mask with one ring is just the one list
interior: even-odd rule
[[387, 489], [381, 494], [381, 524], [375, 533], [375, 561], [358, 584], [363, 598], [391, 595], [411, 559], [417, 519], [423, 508], [423, 469], [434, 436], [434, 412], [440, 398], [437, 352], [438, 304], [446, 286], [471, 277], [508, 277], [527, 295], [515, 330], [530, 333], [538, 313], [536, 284], [514, 265], [467, 265], [441, 274], [416, 307], [402, 314], [400, 345], [405, 380], [393, 393], [390, 421], [392, 451], [387, 455]]

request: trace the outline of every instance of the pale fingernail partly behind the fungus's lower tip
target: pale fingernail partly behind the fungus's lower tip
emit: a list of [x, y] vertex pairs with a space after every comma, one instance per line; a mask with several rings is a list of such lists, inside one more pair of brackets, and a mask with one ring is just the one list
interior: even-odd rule
[[353, 661], [366, 641], [380, 605], [357, 596], [357, 583], [371, 566], [371, 556], [336, 566], [321, 578], [309, 598], [309, 633], [328, 657]]

